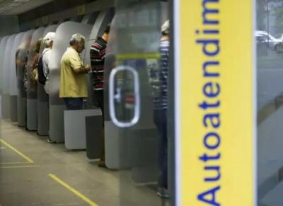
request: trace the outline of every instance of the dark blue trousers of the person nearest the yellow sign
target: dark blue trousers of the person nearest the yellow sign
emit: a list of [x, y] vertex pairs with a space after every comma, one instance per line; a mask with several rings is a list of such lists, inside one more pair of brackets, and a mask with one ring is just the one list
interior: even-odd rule
[[168, 188], [167, 110], [154, 110], [154, 123], [158, 130], [158, 187]]

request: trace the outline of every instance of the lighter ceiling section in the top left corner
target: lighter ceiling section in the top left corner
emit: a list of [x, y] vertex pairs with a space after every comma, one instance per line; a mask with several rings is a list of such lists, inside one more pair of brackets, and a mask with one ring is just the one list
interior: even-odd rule
[[0, 16], [18, 15], [53, 0], [0, 0]]

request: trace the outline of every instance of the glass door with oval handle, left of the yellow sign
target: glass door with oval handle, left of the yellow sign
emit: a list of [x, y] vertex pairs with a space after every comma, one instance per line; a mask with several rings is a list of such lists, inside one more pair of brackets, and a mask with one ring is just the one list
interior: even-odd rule
[[[159, 1], [117, 1], [116, 15], [111, 24], [105, 59], [105, 147], [106, 165], [120, 171], [121, 206], [170, 205], [170, 199], [156, 195], [161, 173], [158, 161], [166, 171], [168, 161], [165, 147], [162, 147], [165, 153], [160, 154], [161, 135], [154, 123], [154, 97], [160, 94], [160, 88], [154, 89], [152, 83], [158, 81], [158, 75], [151, 78], [152, 71], [160, 73], [161, 24], [166, 20], [161, 17], [164, 14], [162, 8], [166, 9], [166, 6]], [[134, 92], [136, 79], [129, 71], [117, 73], [113, 82], [115, 96], [109, 98], [109, 76], [117, 67], [131, 67], [139, 76], [140, 117], [131, 127], [118, 127], [110, 119], [110, 101], [115, 101], [115, 115], [121, 122], [132, 120], [134, 108], [138, 106]], [[166, 133], [166, 110], [162, 120], [165, 122], [162, 132]], [[113, 130], [117, 132], [108, 134]], [[108, 149], [114, 147], [108, 142], [113, 141], [115, 135], [118, 155], [110, 153], [115, 149]], [[167, 183], [168, 177], [164, 179]], [[168, 194], [165, 190], [162, 193]]]

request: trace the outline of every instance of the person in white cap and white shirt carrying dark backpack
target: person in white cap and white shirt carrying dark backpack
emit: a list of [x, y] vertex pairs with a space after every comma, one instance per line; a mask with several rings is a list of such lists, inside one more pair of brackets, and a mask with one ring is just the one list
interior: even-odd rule
[[43, 71], [46, 76], [46, 82], [45, 82], [45, 92], [49, 94], [49, 68], [50, 68], [50, 55], [51, 55], [51, 50], [53, 46], [53, 40], [55, 38], [55, 33], [50, 32], [45, 35], [45, 38], [43, 38], [43, 42], [45, 44], [45, 50], [42, 52], [42, 64], [43, 64]]

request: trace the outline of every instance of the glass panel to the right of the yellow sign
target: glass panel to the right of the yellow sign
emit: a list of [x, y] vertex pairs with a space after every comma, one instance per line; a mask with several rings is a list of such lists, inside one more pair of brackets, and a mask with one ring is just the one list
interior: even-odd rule
[[257, 0], [258, 205], [282, 205], [283, 1]]

